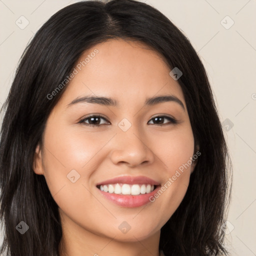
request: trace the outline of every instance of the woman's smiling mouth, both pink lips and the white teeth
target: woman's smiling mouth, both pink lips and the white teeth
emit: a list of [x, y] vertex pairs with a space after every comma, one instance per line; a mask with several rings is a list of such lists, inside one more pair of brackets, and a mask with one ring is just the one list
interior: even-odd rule
[[150, 202], [161, 187], [157, 181], [144, 176], [121, 176], [96, 184], [103, 198], [122, 207], [139, 207]]

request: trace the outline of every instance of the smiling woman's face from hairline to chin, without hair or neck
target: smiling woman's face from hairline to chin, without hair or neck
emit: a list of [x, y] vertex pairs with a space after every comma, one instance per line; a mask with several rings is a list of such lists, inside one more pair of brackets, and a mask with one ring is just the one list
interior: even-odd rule
[[[69, 230], [122, 241], [152, 236], [177, 209], [193, 169], [181, 87], [138, 42], [97, 44], [75, 69], [47, 119], [34, 171], [44, 175]], [[158, 96], [169, 99], [148, 100]]]

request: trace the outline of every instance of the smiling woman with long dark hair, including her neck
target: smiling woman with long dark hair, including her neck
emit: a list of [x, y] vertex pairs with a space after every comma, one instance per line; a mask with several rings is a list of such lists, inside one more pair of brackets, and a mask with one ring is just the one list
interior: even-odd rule
[[3, 110], [0, 252], [227, 254], [229, 158], [211, 88], [155, 8], [59, 10], [25, 49]]

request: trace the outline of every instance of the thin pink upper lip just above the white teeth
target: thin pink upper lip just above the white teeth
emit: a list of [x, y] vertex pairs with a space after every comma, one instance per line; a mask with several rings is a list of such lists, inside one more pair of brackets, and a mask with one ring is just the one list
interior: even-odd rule
[[105, 184], [150, 184], [150, 185], [159, 185], [157, 181], [146, 177], [146, 176], [120, 176], [115, 178], [110, 178], [104, 181], [97, 183], [96, 185], [105, 185]]

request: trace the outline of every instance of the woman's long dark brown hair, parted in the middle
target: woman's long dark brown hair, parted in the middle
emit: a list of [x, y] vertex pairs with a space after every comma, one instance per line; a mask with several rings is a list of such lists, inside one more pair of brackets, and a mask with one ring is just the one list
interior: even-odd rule
[[[21, 56], [1, 111], [0, 253], [11, 256], [58, 255], [58, 206], [43, 175], [33, 172], [35, 147], [81, 53], [109, 38], [141, 41], [160, 53], [170, 70], [178, 67], [190, 123], [201, 155], [177, 210], [161, 228], [159, 249], [170, 255], [221, 255], [230, 201], [231, 169], [212, 91], [204, 67], [182, 32], [162, 13], [134, 0], [81, 1], [52, 15]], [[52, 95], [52, 94], [51, 94]], [[16, 225], [29, 231], [21, 235]]]

